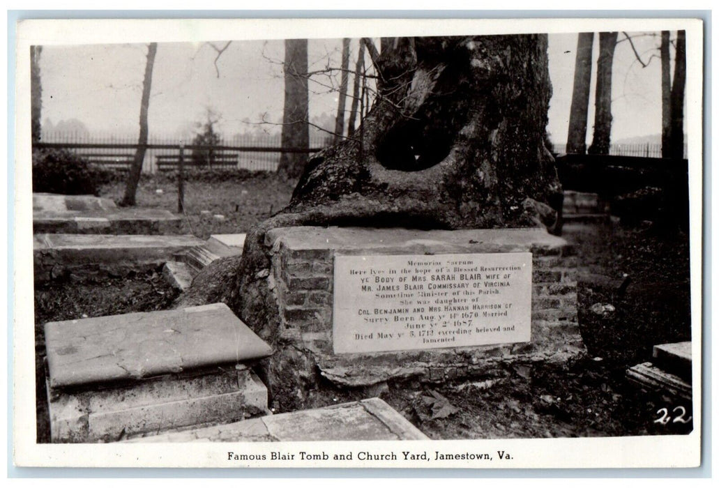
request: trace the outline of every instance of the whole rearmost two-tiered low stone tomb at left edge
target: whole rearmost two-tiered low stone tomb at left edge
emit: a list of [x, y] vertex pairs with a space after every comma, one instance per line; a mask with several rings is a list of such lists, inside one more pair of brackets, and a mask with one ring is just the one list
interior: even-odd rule
[[178, 234], [182, 220], [159, 208], [117, 208], [91, 195], [32, 195], [35, 233]]

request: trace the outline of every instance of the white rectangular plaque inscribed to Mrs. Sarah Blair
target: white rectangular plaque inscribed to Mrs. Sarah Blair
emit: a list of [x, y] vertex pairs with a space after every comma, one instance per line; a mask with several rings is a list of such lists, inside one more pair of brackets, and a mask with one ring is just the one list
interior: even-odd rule
[[532, 255], [334, 258], [335, 353], [531, 340]]

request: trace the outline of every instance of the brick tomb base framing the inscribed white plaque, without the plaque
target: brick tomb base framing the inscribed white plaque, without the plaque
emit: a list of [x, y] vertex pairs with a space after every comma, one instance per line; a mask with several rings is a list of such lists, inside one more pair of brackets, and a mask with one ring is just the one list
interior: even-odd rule
[[[280, 316], [276, 331], [279, 340], [273, 342], [283, 344], [271, 358], [276, 372], [304, 364], [308, 370], [295, 375], [306, 379], [319, 370], [334, 384], [349, 387], [398, 379], [442, 382], [485, 376], [513, 362], [563, 362], [584, 351], [577, 325], [576, 258], [564, 239], [544, 230], [293, 227], [269, 231], [265, 244], [272, 249], [270, 287]], [[528, 252], [531, 257], [523, 254], [531, 259], [531, 274], [527, 273], [523, 285], [527, 287], [523, 300], [527, 308], [526, 340], [335, 353], [338, 348], [333, 328], [347, 326], [333, 322], [336, 280], [340, 279], [334, 274], [337, 257], [363, 256], [371, 261], [377, 256], [427, 258]], [[477, 323], [480, 325], [481, 320]], [[298, 354], [303, 356], [302, 361], [298, 361]], [[288, 376], [281, 375], [286, 381]]]

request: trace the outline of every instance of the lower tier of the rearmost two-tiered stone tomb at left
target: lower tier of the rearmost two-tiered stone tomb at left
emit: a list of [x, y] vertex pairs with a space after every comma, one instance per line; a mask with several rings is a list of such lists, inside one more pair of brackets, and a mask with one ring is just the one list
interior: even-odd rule
[[[35, 233], [178, 234], [182, 219], [160, 208], [88, 206], [73, 210], [33, 210]], [[78, 206], [74, 206], [77, 208]]]

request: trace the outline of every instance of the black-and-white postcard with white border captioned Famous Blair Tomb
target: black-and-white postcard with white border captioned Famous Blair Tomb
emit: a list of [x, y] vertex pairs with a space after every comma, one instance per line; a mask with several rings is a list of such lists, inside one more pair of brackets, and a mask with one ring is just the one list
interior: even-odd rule
[[699, 465], [700, 19], [17, 32], [19, 466]]

